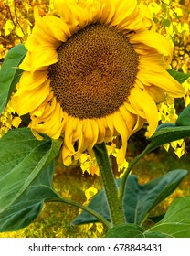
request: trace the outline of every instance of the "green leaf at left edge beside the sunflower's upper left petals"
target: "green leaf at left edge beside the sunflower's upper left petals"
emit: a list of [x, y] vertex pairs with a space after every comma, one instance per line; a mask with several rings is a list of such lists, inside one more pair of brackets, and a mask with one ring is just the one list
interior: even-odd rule
[[0, 70], [0, 114], [4, 112], [16, 83], [20, 80], [23, 70], [17, 68], [26, 55], [26, 48], [19, 44], [12, 48], [3, 62]]

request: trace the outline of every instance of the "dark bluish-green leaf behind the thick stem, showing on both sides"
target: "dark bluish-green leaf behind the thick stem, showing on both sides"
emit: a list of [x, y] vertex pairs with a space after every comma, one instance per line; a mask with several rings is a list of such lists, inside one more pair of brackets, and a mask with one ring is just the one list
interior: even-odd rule
[[[187, 173], [185, 170], [174, 170], [145, 185], [138, 183], [137, 176], [128, 176], [124, 192], [124, 210], [127, 222], [141, 225], [150, 210], [174, 192]], [[119, 186], [121, 180], [116, 182]], [[104, 219], [111, 221], [104, 190], [92, 198], [88, 207], [97, 211]], [[98, 219], [82, 211], [72, 224], [79, 225], [97, 221]]]

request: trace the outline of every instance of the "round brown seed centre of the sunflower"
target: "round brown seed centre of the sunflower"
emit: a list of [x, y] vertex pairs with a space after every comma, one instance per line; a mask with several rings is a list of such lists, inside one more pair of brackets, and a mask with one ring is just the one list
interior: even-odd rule
[[114, 27], [90, 25], [58, 47], [49, 67], [51, 87], [63, 111], [101, 118], [119, 109], [132, 90], [139, 56]]

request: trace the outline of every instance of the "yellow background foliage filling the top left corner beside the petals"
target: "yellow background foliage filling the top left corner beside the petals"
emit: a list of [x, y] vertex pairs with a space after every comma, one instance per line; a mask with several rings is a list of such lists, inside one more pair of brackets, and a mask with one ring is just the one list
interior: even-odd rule
[[[10, 48], [26, 41], [34, 25], [34, 7], [40, 15], [48, 12], [47, 0], [0, 1], [0, 61]], [[52, 2], [52, 1], [51, 1]]]

